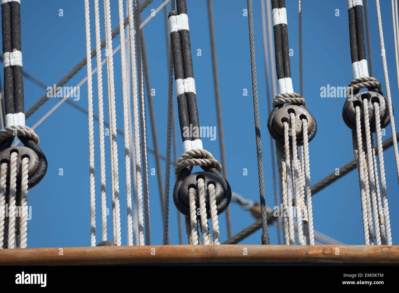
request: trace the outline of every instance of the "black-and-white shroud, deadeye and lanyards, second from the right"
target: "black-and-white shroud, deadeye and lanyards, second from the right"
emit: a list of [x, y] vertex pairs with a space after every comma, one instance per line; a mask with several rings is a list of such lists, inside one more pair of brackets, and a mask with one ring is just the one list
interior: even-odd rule
[[[298, 3], [301, 17], [301, 3]], [[276, 144], [284, 209], [284, 243], [296, 243], [292, 208], [294, 206], [298, 244], [314, 244], [308, 143], [314, 138], [317, 125], [313, 115], [305, 108], [306, 100], [301, 94], [295, 93], [292, 86], [285, 1], [271, 0], [271, 4], [278, 94], [273, 100], [273, 110], [267, 127]], [[270, 9], [268, 10], [270, 14]], [[302, 47], [301, 25], [299, 18], [300, 48]], [[302, 91], [302, 58], [300, 58], [300, 84]], [[298, 146], [301, 146], [301, 155]]]

